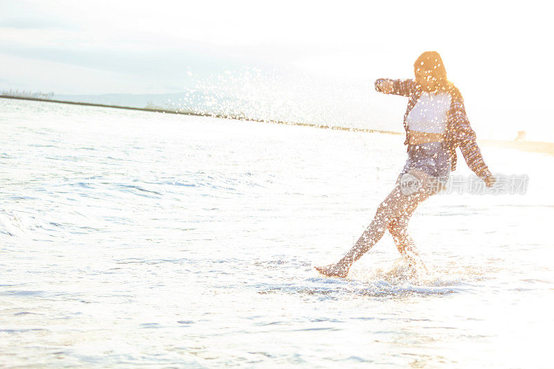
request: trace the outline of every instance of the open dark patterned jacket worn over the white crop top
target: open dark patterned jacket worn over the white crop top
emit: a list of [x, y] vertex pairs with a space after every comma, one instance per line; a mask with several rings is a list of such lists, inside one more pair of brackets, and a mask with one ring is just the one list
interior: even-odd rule
[[[388, 78], [380, 78], [375, 81], [375, 89], [377, 91], [384, 92], [380, 89], [380, 82], [384, 81], [393, 82], [393, 91], [391, 93], [410, 98], [406, 113], [404, 114], [404, 130], [406, 131], [404, 145], [408, 145], [409, 129], [406, 118], [411, 109], [415, 107], [415, 103], [418, 102], [422, 94], [422, 89], [415, 80], [390, 80]], [[456, 147], [459, 146], [467, 166], [484, 181], [490, 177], [492, 173], [485, 164], [483, 156], [481, 156], [481, 150], [479, 150], [479, 146], [477, 146], [476, 134], [470, 126], [470, 120], [467, 119], [467, 115], [465, 114], [462, 95], [460, 91], [454, 87], [452, 91], [450, 91], [450, 96], [452, 96], [452, 99], [450, 102], [450, 109], [447, 113], [445, 143], [450, 158], [452, 159], [452, 171], [456, 170], [456, 161], [458, 159], [456, 156]]]

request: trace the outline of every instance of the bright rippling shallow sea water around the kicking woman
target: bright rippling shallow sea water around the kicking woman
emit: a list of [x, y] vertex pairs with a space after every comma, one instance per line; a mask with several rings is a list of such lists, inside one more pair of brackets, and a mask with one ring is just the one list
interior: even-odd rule
[[429, 273], [386, 233], [339, 280], [403, 136], [3, 99], [0, 134], [0, 364], [551, 367], [553, 156], [482, 146], [524, 195], [431, 197]]

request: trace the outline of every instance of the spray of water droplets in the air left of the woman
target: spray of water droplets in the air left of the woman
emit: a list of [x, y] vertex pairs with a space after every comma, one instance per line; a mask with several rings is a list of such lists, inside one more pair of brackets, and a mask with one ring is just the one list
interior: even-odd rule
[[207, 78], [188, 71], [179, 111], [274, 123], [367, 129], [375, 126], [373, 86], [336, 84], [294, 71], [243, 67]]

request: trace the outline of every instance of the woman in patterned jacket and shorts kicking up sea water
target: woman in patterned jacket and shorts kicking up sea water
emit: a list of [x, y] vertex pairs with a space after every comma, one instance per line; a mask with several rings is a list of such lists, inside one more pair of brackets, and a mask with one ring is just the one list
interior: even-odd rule
[[440, 55], [436, 51], [422, 53], [413, 69], [414, 80], [375, 81], [377, 91], [409, 98], [404, 114], [404, 145], [408, 145], [406, 165], [352, 249], [336, 264], [316, 267], [325, 276], [346, 277], [352, 264], [371, 249], [386, 230], [409, 264], [418, 262], [418, 252], [408, 234], [408, 222], [418, 204], [444, 188], [450, 172], [456, 169], [456, 147], [460, 147], [467, 165], [487, 187], [494, 183], [467, 120], [461, 93], [447, 80]]

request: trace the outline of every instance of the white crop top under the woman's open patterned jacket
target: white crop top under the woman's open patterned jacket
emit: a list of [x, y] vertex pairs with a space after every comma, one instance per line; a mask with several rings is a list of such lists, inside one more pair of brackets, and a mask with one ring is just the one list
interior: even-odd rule
[[445, 91], [423, 92], [406, 117], [408, 129], [427, 133], [445, 133], [451, 99], [450, 94]]

